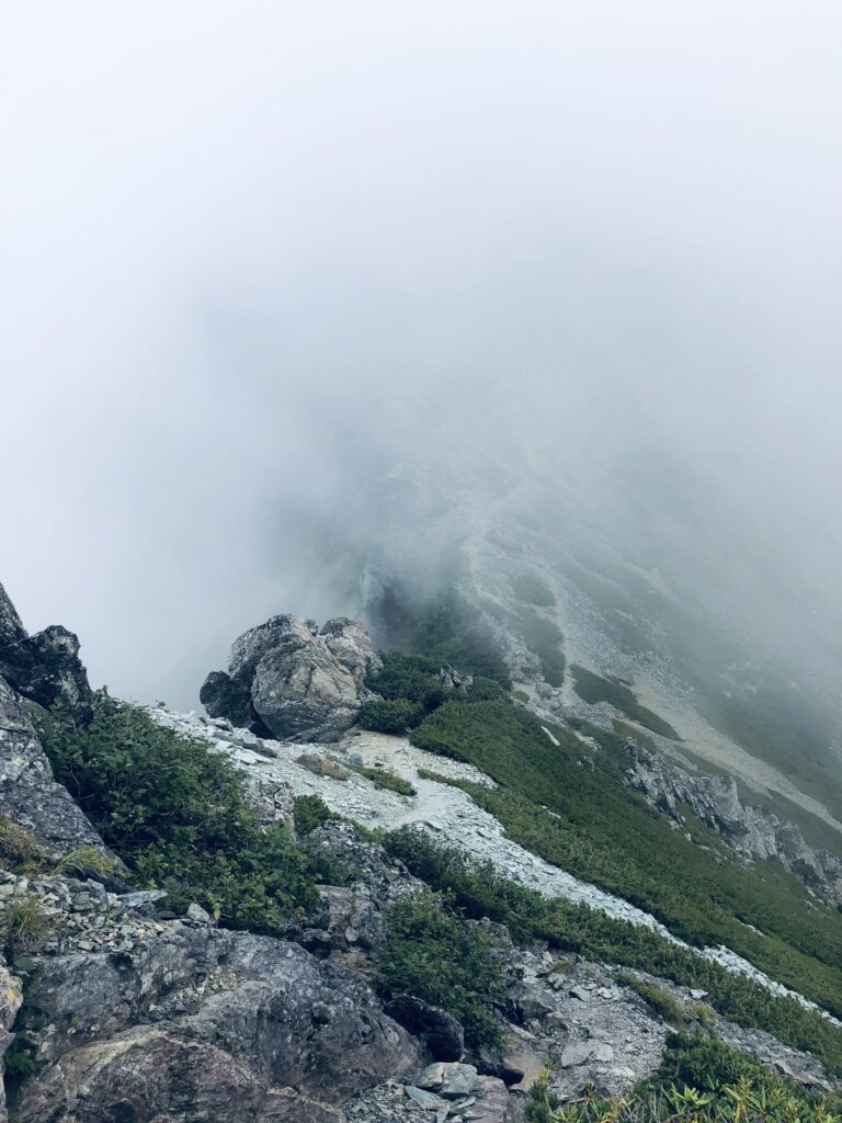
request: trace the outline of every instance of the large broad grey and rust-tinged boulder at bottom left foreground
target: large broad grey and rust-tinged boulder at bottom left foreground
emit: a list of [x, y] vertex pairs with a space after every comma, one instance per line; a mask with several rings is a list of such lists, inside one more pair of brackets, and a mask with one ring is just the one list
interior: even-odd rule
[[167, 924], [128, 953], [45, 958], [31, 996], [51, 1033], [20, 1123], [322, 1123], [420, 1059], [349, 973], [208, 925]]

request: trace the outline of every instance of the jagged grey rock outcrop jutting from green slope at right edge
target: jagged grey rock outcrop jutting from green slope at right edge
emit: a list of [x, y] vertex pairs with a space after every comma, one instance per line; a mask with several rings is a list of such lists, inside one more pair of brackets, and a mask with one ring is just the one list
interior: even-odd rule
[[842, 905], [842, 861], [829, 850], [814, 850], [797, 827], [771, 812], [740, 801], [732, 776], [694, 776], [683, 768], [625, 742], [633, 765], [626, 773], [631, 787], [677, 825], [684, 825], [685, 804], [733, 850], [750, 858], [774, 858], [806, 886]]

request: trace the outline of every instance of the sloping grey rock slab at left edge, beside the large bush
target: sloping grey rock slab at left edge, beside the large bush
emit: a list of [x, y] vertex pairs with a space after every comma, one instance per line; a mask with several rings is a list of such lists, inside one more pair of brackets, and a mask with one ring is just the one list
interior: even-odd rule
[[106, 849], [67, 791], [56, 784], [31, 720], [0, 678], [0, 814], [25, 827], [52, 855]]

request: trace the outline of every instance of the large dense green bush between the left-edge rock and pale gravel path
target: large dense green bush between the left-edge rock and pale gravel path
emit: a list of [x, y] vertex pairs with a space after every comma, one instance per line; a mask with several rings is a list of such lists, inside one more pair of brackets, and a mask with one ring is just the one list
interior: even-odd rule
[[138, 883], [166, 889], [173, 909], [195, 901], [228, 928], [274, 932], [318, 903], [317, 882], [341, 877], [284, 827], [260, 825], [225, 757], [137, 706], [100, 693], [86, 728], [57, 710], [42, 732], [58, 782]]

